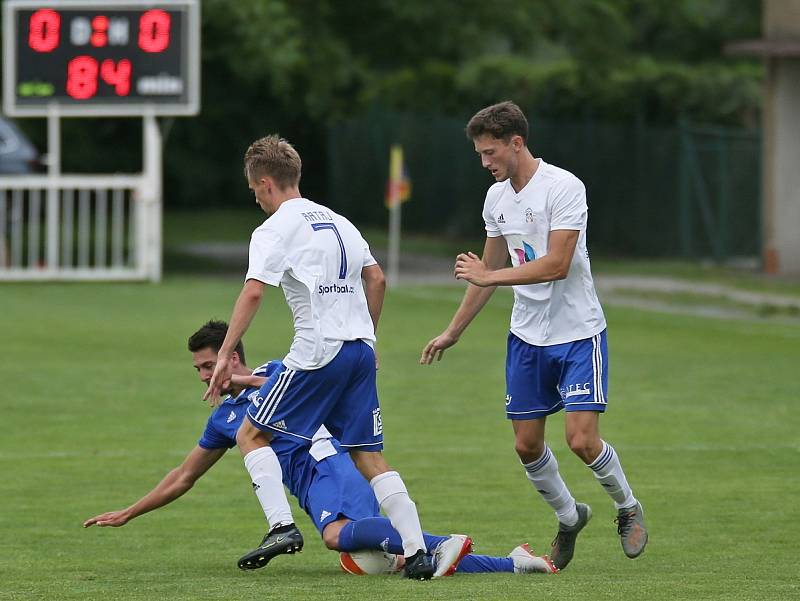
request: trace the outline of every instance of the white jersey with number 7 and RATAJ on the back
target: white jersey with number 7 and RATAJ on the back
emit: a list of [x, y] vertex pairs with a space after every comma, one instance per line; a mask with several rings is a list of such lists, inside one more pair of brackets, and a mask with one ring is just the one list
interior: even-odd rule
[[319, 369], [345, 340], [374, 345], [361, 269], [376, 263], [350, 221], [305, 198], [287, 200], [256, 228], [245, 279], [283, 289], [295, 331], [287, 367]]

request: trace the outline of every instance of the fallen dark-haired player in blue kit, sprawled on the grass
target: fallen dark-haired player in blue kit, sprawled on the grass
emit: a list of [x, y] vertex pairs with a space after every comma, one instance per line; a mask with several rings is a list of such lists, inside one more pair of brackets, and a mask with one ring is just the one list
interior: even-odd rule
[[[226, 331], [227, 324], [224, 322], [209, 321], [189, 338], [192, 362], [206, 385], [214, 372], [217, 352]], [[123, 526], [135, 517], [171, 503], [188, 491], [229, 448], [236, 446], [236, 432], [247, 413], [251, 398], [257, 396], [258, 387], [282, 364], [280, 361], [270, 361], [255, 371], [249, 370], [244, 362], [241, 343], [233, 357], [234, 372], [231, 389], [226, 391], [228, 396], [211, 414], [198, 445], [183, 463], [130, 507], [89, 518], [84, 522], [84, 527]], [[310, 444], [276, 433], [272, 448], [281, 463], [284, 484], [311, 518], [326, 547], [342, 552], [340, 563], [345, 569], [348, 560], [353, 561], [353, 556], [356, 562], [359, 560], [356, 552], [365, 550], [389, 556], [400, 555], [396, 563], [400, 564], [398, 569], [402, 569], [403, 545], [400, 535], [387, 518], [380, 516], [369, 483], [355, 468], [347, 451], [341, 449], [327, 430], [320, 428]], [[424, 537], [433, 558], [434, 576], [437, 577], [450, 575], [456, 570], [460, 573], [557, 572], [549, 558], [534, 555], [527, 545], [517, 547], [509, 557], [488, 557], [471, 555], [472, 540], [465, 535], [436, 536], [424, 533]], [[279, 548], [258, 548], [243, 556], [239, 560], [239, 567], [263, 567], [276, 555], [294, 553], [301, 548], [302, 544], [298, 548], [291, 540]], [[347, 571], [353, 572], [352, 569]]]

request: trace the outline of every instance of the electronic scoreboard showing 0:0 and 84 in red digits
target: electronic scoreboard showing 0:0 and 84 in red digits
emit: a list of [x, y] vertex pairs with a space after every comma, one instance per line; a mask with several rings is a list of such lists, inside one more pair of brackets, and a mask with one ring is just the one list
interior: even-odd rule
[[199, 111], [197, 0], [8, 0], [3, 11], [6, 114]]

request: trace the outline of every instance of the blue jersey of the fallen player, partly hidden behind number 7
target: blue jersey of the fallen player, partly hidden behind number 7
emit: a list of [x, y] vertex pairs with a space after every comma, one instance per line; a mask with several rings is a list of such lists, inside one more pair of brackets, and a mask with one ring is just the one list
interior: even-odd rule
[[[284, 369], [280, 361], [270, 361], [254, 370], [253, 375], [269, 378], [279, 369]], [[252, 399], [258, 396], [258, 391], [256, 387], [246, 388], [236, 397], [229, 395], [225, 398], [209, 416], [206, 429], [198, 444], [204, 449], [230, 449], [236, 446], [236, 432], [247, 414]], [[328, 435], [309, 444], [307, 441], [282, 435], [278, 431], [272, 434], [270, 446], [281, 464], [283, 483], [305, 508], [317, 462], [325, 457], [343, 453], [339, 441]], [[346, 452], [344, 454], [346, 455]]]

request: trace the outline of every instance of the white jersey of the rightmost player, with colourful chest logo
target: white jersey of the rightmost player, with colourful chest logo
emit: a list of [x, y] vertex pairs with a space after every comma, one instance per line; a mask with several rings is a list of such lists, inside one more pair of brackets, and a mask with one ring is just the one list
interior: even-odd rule
[[582, 340], [606, 327], [586, 249], [587, 212], [583, 183], [542, 159], [519, 194], [510, 179], [494, 184], [486, 193], [486, 235], [503, 236], [515, 267], [545, 256], [550, 232], [580, 232], [566, 279], [513, 286], [511, 332], [528, 344], [549, 346]]

